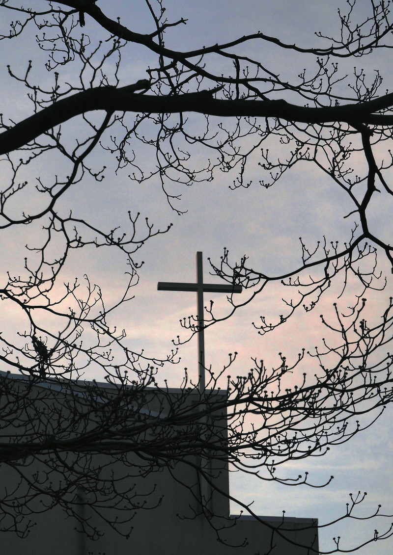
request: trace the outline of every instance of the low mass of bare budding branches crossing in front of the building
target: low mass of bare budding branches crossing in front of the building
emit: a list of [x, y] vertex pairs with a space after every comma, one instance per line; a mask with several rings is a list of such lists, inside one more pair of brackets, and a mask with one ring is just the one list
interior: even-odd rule
[[[280, 364], [271, 370], [255, 360], [247, 376], [228, 377], [227, 393], [217, 387], [236, 354], [218, 375], [210, 372], [205, 395], [187, 375], [175, 393], [158, 386], [154, 369], [131, 381], [115, 367], [108, 370], [106, 386], [3, 374], [0, 459], [19, 477], [17, 498], [14, 490], [2, 497], [5, 529], [27, 532], [26, 520], [19, 522], [17, 514], [23, 506], [26, 517], [29, 499], [37, 496], [42, 498], [42, 510], [60, 504], [77, 517], [81, 490], [92, 494], [88, 504], [104, 520], [108, 520], [106, 509], [121, 511], [125, 502], [137, 514], [160, 503], [160, 488], [145, 487], [140, 492], [138, 483], [146, 486], [150, 481], [127, 486], [130, 476], [148, 477], [167, 468], [181, 481], [179, 465], [196, 470], [213, 495], [227, 495], [211, 475], [208, 461], [216, 468], [228, 461], [230, 468], [263, 481], [322, 487], [310, 483], [307, 473], [282, 477], [280, 465], [324, 455], [331, 445], [348, 441], [378, 415], [363, 425], [354, 418], [376, 409], [382, 412], [393, 395], [392, 355], [379, 356], [381, 347], [392, 340], [392, 302], [374, 327], [362, 319], [364, 306], [365, 302], [349, 326], [338, 311], [334, 322], [324, 322], [334, 332], [333, 346], [326, 340], [324, 348], [307, 355], [302, 352], [292, 364], [281, 355]], [[39, 355], [41, 342], [38, 350]], [[47, 357], [47, 348], [44, 352]], [[297, 385], [288, 385], [293, 384], [292, 375], [305, 356], [311, 357], [307, 365], [311, 371]], [[200, 466], [195, 460], [201, 456], [205, 463]], [[35, 460], [41, 467], [33, 480], [29, 468]], [[127, 472], [115, 480], [111, 469], [116, 462]], [[200, 499], [197, 482], [184, 485], [194, 492], [195, 501]], [[359, 502], [359, 498], [352, 500], [340, 518], [360, 518], [355, 510]], [[209, 510], [198, 501], [188, 518]], [[225, 528], [225, 515], [215, 516], [220, 518], [216, 524], [213, 519], [212, 526], [219, 534]], [[98, 529], [89, 529], [89, 523], [81, 524], [91, 537], [99, 535]], [[111, 522], [126, 535], [132, 524], [121, 517]]]

